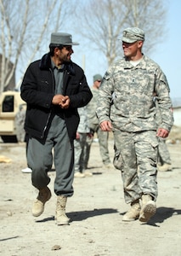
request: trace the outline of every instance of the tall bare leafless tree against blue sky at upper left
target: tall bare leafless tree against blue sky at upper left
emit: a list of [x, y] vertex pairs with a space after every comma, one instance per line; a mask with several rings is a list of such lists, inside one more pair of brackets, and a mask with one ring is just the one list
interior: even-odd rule
[[53, 29], [56, 32], [65, 22], [70, 6], [70, 0], [12, 2], [0, 0], [0, 94], [3, 90], [14, 89], [15, 84], [9, 83], [17, 68], [20, 67], [22, 75], [25, 73], [47, 37], [49, 41], [49, 32]]

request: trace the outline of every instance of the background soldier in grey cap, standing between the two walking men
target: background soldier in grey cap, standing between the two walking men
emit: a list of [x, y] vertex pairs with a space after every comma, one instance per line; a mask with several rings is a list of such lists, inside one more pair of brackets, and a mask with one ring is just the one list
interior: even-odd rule
[[113, 165], [110, 163], [110, 155], [108, 149], [109, 131], [101, 131], [99, 127], [98, 118], [96, 116], [97, 102], [99, 101], [99, 85], [102, 81], [102, 76], [98, 73], [93, 76], [93, 86], [91, 91], [93, 93], [92, 100], [88, 103], [88, 124], [92, 137], [87, 137], [86, 147], [86, 168], [88, 167], [88, 160], [90, 155], [91, 145], [93, 143], [93, 135], [96, 133], [99, 140], [99, 151], [106, 168], [111, 168]]

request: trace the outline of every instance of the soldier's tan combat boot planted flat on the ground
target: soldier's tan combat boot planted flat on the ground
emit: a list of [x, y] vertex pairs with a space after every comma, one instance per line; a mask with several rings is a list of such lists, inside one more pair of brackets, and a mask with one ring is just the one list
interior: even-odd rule
[[123, 215], [122, 221], [133, 221], [139, 218], [139, 212], [141, 207], [139, 205], [139, 199], [131, 203], [131, 208]]

